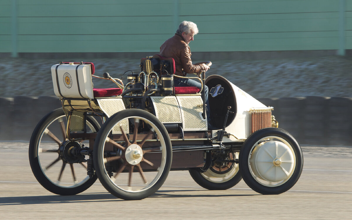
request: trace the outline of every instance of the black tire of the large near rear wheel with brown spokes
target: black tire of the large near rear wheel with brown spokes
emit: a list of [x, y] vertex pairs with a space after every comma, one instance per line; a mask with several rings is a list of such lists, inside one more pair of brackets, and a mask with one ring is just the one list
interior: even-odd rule
[[[124, 186], [124, 178], [120, 177], [121, 174], [120, 172], [115, 172], [115, 175], [120, 175], [117, 179], [111, 178], [108, 175], [108, 172], [106, 171], [105, 168], [105, 163], [104, 163], [104, 147], [105, 143], [107, 140], [107, 137], [111, 133], [111, 130], [113, 127], [118, 124], [122, 120], [126, 120], [129, 118], [129, 123], [131, 123], [132, 120], [135, 120], [138, 118], [139, 120], [142, 120], [144, 122], [144, 125], [146, 124], [151, 125], [154, 129], [155, 132], [158, 133], [158, 137], [160, 140], [160, 143], [162, 145], [161, 149], [164, 154], [164, 159], [161, 162], [161, 165], [159, 166], [158, 170], [156, 171], [156, 176], [153, 177], [153, 180], [150, 181], [150, 184], [147, 185], [144, 188], [138, 189], [138, 190], [132, 190], [131, 189], [126, 189], [127, 186]], [[133, 118], [133, 119], [131, 119]], [[131, 126], [131, 124], [130, 124]], [[131, 135], [130, 137], [132, 137]], [[137, 143], [137, 142], [136, 142]], [[140, 143], [139, 143], [140, 144]], [[121, 143], [122, 146], [126, 147], [126, 143]], [[141, 145], [141, 147], [143, 147]], [[127, 147], [126, 147], [127, 149]], [[143, 149], [143, 148], [142, 148]], [[124, 155], [125, 152], [122, 154]], [[144, 158], [145, 155], [143, 155]], [[126, 159], [127, 161], [127, 159]], [[146, 197], [149, 197], [153, 193], [155, 193], [165, 182], [166, 177], [169, 174], [170, 168], [171, 168], [171, 162], [172, 162], [172, 146], [171, 146], [171, 141], [168, 132], [166, 131], [166, 128], [164, 125], [151, 113], [143, 111], [141, 109], [125, 109], [122, 110], [114, 115], [112, 115], [108, 120], [102, 125], [100, 131], [98, 132], [98, 135], [95, 139], [95, 144], [94, 144], [94, 154], [93, 154], [93, 162], [94, 162], [94, 167], [96, 170], [96, 174], [98, 175], [98, 178], [101, 182], [101, 184], [105, 187], [106, 190], [108, 190], [112, 195], [119, 197], [120, 199], [124, 200], [140, 200], [144, 199]], [[139, 162], [140, 163], [140, 162]], [[139, 165], [136, 164], [136, 165]], [[142, 164], [143, 165], [143, 164]], [[133, 173], [133, 166], [130, 164], [126, 164], [126, 166], [132, 167], [132, 173]], [[124, 168], [122, 168], [124, 169]], [[143, 170], [142, 170], [143, 171]], [[144, 171], [143, 171], [144, 172]], [[154, 175], [155, 172], [152, 172], [152, 175]], [[115, 177], [115, 175], [113, 177]], [[128, 178], [132, 178], [132, 174]], [[137, 175], [137, 174], [135, 174]], [[141, 174], [142, 175], [142, 174]], [[137, 178], [136, 178], [137, 179]], [[123, 183], [115, 183], [116, 181], [121, 181]], [[137, 185], [137, 187], [140, 187]]]

